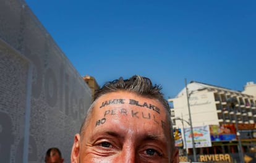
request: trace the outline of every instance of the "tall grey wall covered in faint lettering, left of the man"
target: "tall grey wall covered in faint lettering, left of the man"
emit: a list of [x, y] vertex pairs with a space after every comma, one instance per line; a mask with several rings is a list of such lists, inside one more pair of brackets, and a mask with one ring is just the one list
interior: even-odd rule
[[[75, 54], [74, 54], [75, 55]], [[0, 162], [65, 162], [91, 91], [25, 1], [0, 1]]]

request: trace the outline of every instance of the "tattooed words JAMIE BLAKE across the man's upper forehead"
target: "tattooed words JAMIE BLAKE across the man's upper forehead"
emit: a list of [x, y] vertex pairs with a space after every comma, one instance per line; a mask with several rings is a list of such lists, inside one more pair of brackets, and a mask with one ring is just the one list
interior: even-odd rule
[[[109, 99], [108, 101], [102, 102], [100, 108], [111, 105], [111, 104], [124, 104], [125, 101], [126, 99]], [[139, 106], [139, 107], [146, 107], [160, 114], [160, 109], [158, 107], [154, 106], [153, 104], [148, 104], [147, 102], [140, 102], [135, 99], [129, 99], [128, 104]]]

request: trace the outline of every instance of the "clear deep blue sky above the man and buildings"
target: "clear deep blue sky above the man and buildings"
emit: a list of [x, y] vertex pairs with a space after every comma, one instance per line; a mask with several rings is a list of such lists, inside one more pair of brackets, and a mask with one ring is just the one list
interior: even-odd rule
[[256, 1], [27, 0], [80, 75], [143, 75], [173, 98], [187, 82], [256, 82]]

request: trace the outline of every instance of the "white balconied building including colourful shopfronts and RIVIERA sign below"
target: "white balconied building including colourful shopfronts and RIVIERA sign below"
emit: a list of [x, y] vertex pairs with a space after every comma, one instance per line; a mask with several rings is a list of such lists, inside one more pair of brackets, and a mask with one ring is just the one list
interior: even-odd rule
[[[221, 129], [216, 131], [218, 136], [211, 135], [210, 147], [195, 149], [198, 161], [211, 162], [216, 161], [217, 157], [227, 156], [223, 161], [241, 162], [239, 149], [244, 153], [244, 159], [256, 161], [256, 84], [254, 82], [248, 82], [244, 86], [244, 91], [235, 91], [191, 81], [187, 85], [187, 90], [186, 87], [183, 88], [176, 98], [169, 98], [168, 101], [172, 103], [173, 128], [190, 128], [190, 108], [193, 128], [210, 125], [211, 132], [213, 132], [212, 126]], [[241, 147], [234, 128], [236, 122], [240, 132]], [[185, 145], [178, 147], [180, 159], [187, 161], [187, 157], [191, 159], [194, 152], [192, 148], [187, 149], [186, 143], [189, 141], [185, 140], [184, 132], [182, 139]], [[182, 150], [183, 148], [186, 148], [187, 152]], [[213, 156], [216, 158], [212, 159]]]

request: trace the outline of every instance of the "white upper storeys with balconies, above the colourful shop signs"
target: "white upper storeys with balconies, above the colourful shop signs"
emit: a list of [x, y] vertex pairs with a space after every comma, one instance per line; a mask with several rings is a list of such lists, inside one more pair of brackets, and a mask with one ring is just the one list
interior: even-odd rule
[[[187, 96], [188, 92], [188, 96]], [[256, 122], [256, 84], [248, 82], [244, 91], [235, 91], [206, 83], [191, 81], [176, 98], [168, 99], [173, 103], [172, 119], [174, 128], [182, 128], [181, 120], [189, 122], [189, 108], [193, 127], [202, 125], [221, 125], [223, 123]], [[233, 106], [230, 99], [236, 99]], [[189, 105], [188, 101], [189, 99]], [[189, 127], [184, 123], [185, 127]]]

